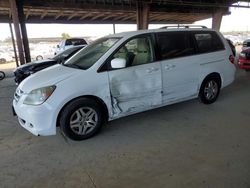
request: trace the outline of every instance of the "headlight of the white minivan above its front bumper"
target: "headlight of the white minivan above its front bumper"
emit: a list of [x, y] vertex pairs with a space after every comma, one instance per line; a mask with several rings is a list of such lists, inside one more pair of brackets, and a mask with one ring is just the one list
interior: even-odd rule
[[56, 86], [34, 89], [27, 95], [23, 103], [28, 105], [41, 105], [52, 95], [55, 89]]

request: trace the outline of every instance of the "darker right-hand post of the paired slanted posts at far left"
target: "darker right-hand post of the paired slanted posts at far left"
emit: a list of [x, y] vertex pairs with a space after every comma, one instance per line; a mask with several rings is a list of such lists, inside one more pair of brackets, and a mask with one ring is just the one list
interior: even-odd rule
[[22, 32], [22, 42], [23, 42], [23, 48], [24, 48], [24, 53], [25, 53], [25, 60], [27, 63], [31, 61], [31, 58], [30, 58], [28, 35], [27, 35], [27, 30], [26, 30], [26, 25], [25, 25], [25, 16], [23, 13], [23, 1], [16, 0], [16, 5], [17, 5], [18, 17], [19, 17], [21, 32]]

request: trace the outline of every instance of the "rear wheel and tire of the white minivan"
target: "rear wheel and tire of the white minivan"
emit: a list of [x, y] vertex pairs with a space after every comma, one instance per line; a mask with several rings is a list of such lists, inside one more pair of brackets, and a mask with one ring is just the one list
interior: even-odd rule
[[219, 76], [207, 77], [201, 84], [199, 99], [204, 104], [212, 104], [219, 96], [221, 81]]

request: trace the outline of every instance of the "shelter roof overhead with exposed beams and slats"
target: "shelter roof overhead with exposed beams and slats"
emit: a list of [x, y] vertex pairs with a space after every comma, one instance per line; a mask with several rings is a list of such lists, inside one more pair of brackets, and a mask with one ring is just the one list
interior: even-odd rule
[[[229, 14], [233, 0], [138, 0], [150, 5], [149, 23], [193, 23], [220, 9]], [[136, 23], [134, 0], [23, 0], [26, 23]], [[9, 0], [0, 1], [0, 23], [11, 17]]]

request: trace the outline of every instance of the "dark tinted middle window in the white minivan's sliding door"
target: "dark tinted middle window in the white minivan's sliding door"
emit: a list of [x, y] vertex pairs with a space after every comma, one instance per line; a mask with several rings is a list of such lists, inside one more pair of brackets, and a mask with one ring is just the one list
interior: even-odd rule
[[195, 46], [188, 32], [158, 33], [157, 42], [162, 60], [195, 53]]

